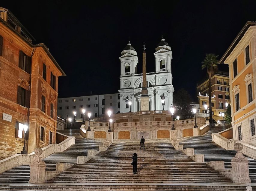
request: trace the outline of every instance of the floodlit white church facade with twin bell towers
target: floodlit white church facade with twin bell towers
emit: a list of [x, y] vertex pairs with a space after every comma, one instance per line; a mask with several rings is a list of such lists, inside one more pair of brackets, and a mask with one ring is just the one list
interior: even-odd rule
[[[171, 47], [162, 38], [156, 47], [155, 72], [147, 73], [149, 110], [168, 110], [173, 105]], [[142, 73], [137, 74], [138, 56], [130, 43], [121, 52], [120, 113], [140, 111]], [[162, 101], [164, 100], [164, 101]], [[129, 105], [131, 103], [131, 107]], [[162, 103], [163, 102], [163, 103]]]

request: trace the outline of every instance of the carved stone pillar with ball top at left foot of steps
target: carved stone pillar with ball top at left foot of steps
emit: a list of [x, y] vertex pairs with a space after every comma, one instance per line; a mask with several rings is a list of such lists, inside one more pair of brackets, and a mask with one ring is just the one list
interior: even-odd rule
[[41, 148], [35, 150], [35, 154], [31, 156], [30, 161], [30, 178], [28, 183], [38, 184], [45, 182], [45, 162], [42, 161], [40, 155], [43, 153]]

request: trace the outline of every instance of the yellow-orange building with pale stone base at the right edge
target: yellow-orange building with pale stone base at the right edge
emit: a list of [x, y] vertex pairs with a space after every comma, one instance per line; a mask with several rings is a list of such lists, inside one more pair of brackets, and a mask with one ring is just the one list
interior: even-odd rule
[[256, 146], [256, 22], [247, 22], [220, 63], [228, 64], [234, 140]]

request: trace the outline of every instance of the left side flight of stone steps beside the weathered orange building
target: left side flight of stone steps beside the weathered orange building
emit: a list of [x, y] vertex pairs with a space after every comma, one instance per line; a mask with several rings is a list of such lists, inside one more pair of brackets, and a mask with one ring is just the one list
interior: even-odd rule
[[[98, 150], [99, 146], [103, 145], [102, 140], [86, 139], [79, 134], [80, 130], [62, 130], [60, 133], [75, 136], [75, 144], [67, 148], [62, 153], [53, 153], [44, 158], [46, 170], [55, 171], [56, 163], [77, 163], [78, 156], [87, 156], [87, 150]], [[28, 183], [30, 175], [29, 165], [14, 167], [0, 174], [0, 185], [10, 183]]]

